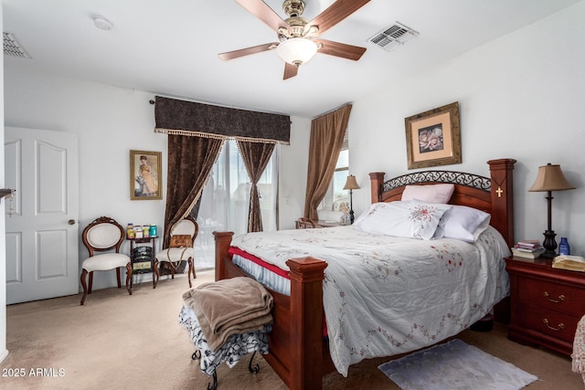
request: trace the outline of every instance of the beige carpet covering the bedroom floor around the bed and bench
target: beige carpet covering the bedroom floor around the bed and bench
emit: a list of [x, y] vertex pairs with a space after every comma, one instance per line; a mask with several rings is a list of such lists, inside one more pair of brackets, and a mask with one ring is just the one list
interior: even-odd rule
[[[197, 283], [213, 277], [213, 271], [197, 271]], [[96, 290], [85, 306], [80, 306], [80, 294], [8, 306], [9, 355], [0, 364], [0, 388], [207, 388], [210, 378], [191, 360], [193, 345], [177, 323], [187, 288], [181, 276], [161, 279], [155, 290], [150, 283], [134, 285], [132, 296], [123, 288]], [[539, 381], [528, 390], [585, 388], [580, 374], [571, 372], [569, 357], [512, 343], [502, 324], [492, 332], [465, 331], [458, 338], [536, 374]], [[356, 364], [347, 378], [328, 374], [324, 388], [398, 389], [378, 370], [388, 360]], [[218, 389], [286, 388], [261, 357], [255, 362], [261, 366], [259, 374], [248, 372], [248, 359], [231, 370], [222, 364]]]

